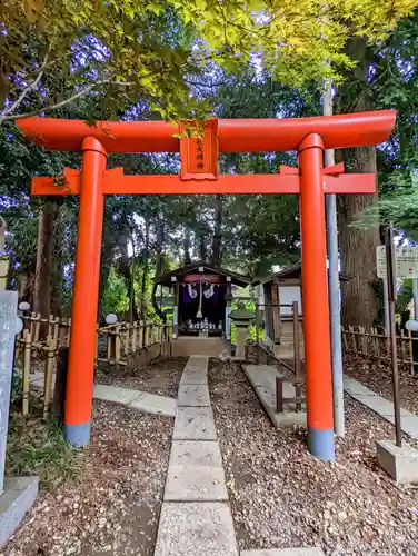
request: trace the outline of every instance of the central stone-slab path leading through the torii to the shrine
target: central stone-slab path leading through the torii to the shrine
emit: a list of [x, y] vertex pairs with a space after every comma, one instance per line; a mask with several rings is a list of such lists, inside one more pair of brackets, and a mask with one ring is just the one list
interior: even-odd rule
[[180, 380], [155, 556], [238, 556], [208, 365], [191, 356]]

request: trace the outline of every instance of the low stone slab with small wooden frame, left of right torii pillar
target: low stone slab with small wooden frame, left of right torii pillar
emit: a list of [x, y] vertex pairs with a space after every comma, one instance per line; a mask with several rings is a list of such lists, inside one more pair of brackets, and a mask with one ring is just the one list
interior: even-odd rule
[[[285, 404], [285, 413], [276, 413], [276, 377], [282, 374], [272, 365], [243, 365], [248, 380], [252, 385], [262, 407], [270, 417], [271, 423], [278, 428], [306, 427], [306, 411], [295, 411], [295, 404]], [[283, 397], [295, 397], [295, 386], [283, 384]], [[305, 409], [305, 404], [302, 409]]]

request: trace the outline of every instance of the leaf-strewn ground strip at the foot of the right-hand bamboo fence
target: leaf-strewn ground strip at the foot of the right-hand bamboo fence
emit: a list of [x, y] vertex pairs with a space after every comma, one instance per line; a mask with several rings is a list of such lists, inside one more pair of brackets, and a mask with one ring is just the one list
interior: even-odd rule
[[[418, 376], [411, 377], [406, 365], [399, 365], [400, 403], [405, 409], [418, 414]], [[345, 356], [345, 374], [356, 378], [379, 396], [394, 399], [390, 364], [368, 361], [351, 354]], [[418, 549], [417, 549], [418, 554]]]

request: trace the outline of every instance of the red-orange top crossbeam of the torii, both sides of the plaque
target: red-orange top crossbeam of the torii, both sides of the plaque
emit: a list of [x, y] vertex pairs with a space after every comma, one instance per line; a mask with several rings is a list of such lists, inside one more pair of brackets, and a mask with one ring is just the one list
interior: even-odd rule
[[[341, 116], [289, 119], [220, 119], [219, 152], [297, 150], [309, 133], [318, 133], [325, 149], [362, 147], [385, 141], [396, 112], [381, 110]], [[80, 150], [86, 137], [98, 139], [108, 152], [178, 152], [177, 129], [166, 121], [104, 121], [28, 118], [18, 126], [28, 139], [50, 150]]]

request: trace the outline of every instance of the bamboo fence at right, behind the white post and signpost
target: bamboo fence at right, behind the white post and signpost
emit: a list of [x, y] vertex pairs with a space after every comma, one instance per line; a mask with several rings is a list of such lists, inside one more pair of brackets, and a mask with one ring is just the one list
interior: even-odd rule
[[[354, 354], [377, 363], [390, 363], [390, 338], [379, 328], [349, 326], [341, 328], [342, 345], [346, 354]], [[398, 364], [409, 368], [411, 376], [418, 375], [418, 337], [410, 330], [400, 330], [396, 338]], [[416, 360], [414, 361], [414, 354]]]

